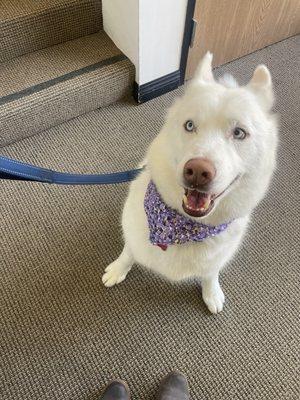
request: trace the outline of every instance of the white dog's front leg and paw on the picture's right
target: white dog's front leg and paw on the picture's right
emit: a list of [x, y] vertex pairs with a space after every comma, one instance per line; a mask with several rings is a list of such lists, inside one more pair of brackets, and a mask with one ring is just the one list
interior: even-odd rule
[[219, 284], [219, 273], [202, 278], [201, 285], [202, 298], [209, 311], [213, 314], [222, 311], [225, 296]]

